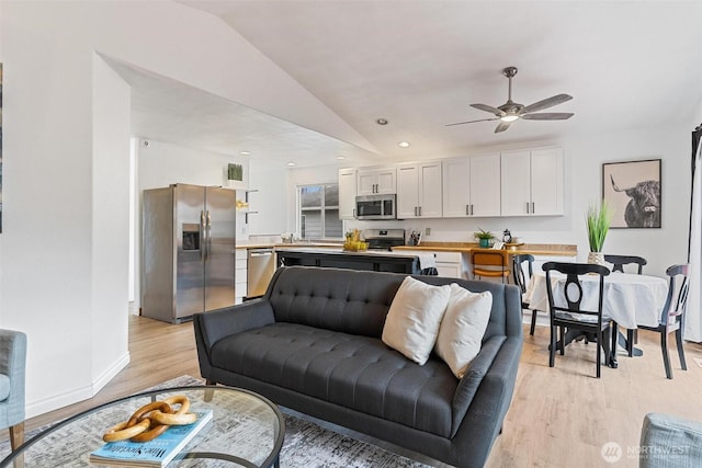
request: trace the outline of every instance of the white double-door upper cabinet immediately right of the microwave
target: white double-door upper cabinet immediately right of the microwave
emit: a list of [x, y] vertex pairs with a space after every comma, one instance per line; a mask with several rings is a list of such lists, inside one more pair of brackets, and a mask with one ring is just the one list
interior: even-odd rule
[[397, 167], [397, 217], [441, 218], [441, 161]]

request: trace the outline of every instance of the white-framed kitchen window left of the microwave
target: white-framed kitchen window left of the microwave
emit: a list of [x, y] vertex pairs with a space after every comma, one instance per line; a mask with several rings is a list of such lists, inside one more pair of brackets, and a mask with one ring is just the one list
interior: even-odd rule
[[299, 190], [299, 235], [303, 239], [341, 238], [339, 185], [303, 185]]

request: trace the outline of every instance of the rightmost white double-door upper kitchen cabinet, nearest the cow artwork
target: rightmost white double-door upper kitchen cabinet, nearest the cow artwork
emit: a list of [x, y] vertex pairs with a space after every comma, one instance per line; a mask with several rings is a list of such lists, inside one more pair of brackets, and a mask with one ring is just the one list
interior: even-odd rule
[[502, 216], [563, 215], [563, 150], [501, 153]]

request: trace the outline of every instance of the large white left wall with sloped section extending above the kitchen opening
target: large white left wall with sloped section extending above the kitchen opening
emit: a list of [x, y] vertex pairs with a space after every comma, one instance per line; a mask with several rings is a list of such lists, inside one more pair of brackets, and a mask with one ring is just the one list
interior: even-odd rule
[[367, 142], [211, 14], [165, 1], [0, 5], [0, 326], [27, 333], [31, 416], [91, 397], [128, 358], [127, 95], [95, 53]]

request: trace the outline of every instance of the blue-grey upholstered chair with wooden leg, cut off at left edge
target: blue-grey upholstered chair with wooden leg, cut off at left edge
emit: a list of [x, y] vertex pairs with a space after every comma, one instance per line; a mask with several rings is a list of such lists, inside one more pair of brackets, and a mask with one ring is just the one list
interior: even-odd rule
[[0, 330], [0, 429], [9, 427], [14, 450], [24, 442], [26, 335]]

